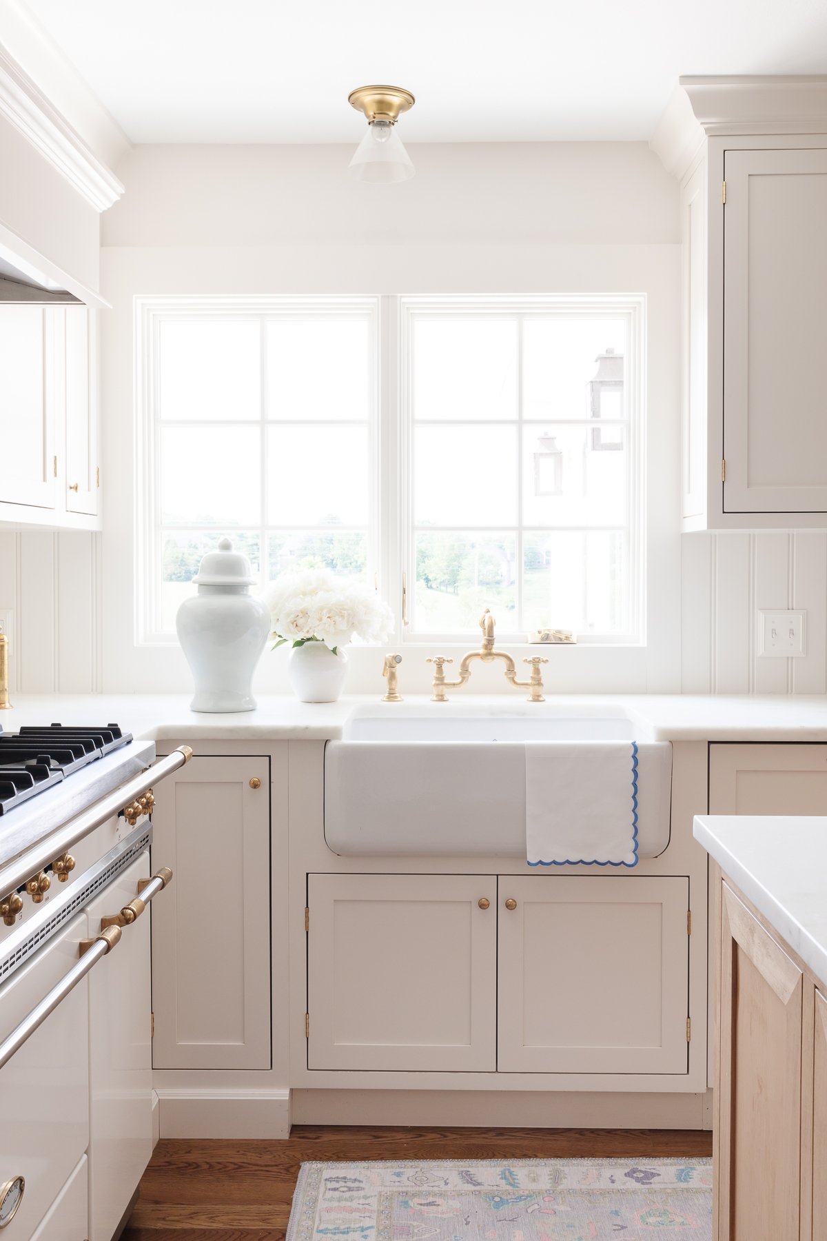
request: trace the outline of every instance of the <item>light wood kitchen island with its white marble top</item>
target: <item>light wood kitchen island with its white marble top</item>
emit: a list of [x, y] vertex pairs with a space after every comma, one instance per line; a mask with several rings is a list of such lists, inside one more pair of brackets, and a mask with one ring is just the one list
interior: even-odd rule
[[827, 819], [704, 817], [718, 894], [714, 1241], [827, 1237]]

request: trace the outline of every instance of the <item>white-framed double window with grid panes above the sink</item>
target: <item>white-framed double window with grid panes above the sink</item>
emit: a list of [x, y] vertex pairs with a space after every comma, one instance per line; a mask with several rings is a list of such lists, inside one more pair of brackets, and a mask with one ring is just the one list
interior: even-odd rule
[[140, 643], [222, 535], [327, 567], [399, 640], [640, 642], [643, 299], [141, 298]]

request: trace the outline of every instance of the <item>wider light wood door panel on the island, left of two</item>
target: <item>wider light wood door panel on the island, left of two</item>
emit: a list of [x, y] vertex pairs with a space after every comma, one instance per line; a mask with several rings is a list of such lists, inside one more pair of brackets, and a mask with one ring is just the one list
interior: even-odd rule
[[727, 884], [719, 997], [715, 1236], [795, 1241], [803, 975]]

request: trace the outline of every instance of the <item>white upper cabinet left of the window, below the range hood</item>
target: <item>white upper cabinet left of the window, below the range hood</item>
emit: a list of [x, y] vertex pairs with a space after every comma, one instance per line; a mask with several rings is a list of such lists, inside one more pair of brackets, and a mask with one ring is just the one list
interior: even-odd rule
[[98, 527], [97, 311], [0, 305], [0, 521]]

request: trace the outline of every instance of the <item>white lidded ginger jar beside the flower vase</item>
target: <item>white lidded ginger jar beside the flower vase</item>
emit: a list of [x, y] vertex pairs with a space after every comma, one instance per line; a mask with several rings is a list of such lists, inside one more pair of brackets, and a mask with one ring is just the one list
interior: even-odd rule
[[270, 609], [250, 594], [247, 556], [222, 539], [192, 578], [198, 593], [185, 599], [175, 628], [195, 681], [193, 711], [253, 711], [252, 681], [270, 632]]

